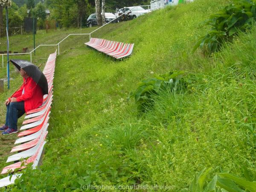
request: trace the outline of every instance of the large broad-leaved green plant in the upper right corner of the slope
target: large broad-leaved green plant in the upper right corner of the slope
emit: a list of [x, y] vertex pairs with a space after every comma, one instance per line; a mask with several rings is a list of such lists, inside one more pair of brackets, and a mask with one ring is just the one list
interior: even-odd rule
[[234, 3], [224, 7], [210, 16], [205, 22], [212, 26], [207, 35], [199, 38], [193, 48], [205, 48], [207, 52], [217, 51], [224, 41], [229, 41], [239, 31], [249, 29], [256, 19], [255, 0], [234, 0]]

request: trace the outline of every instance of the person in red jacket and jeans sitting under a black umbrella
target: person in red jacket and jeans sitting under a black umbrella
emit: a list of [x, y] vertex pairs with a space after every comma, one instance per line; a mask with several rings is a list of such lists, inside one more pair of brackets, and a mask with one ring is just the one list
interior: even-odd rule
[[40, 107], [43, 103], [43, 91], [35, 81], [29, 77], [25, 70], [20, 68], [20, 75], [23, 77], [23, 84], [12, 98], [5, 102], [6, 123], [0, 127], [3, 135], [17, 133], [17, 121], [25, 112]]

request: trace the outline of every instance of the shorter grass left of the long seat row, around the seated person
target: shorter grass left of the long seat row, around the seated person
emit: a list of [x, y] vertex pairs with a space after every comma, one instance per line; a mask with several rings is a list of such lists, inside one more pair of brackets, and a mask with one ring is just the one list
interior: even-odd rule
[[[91, 32], [94, 29], [68, 29], [68, 30], [58, 30], [58, 31], [52, 31], [50, 33], [45, 33], [44, 30], [38, 31], [37, 35], [35, 35], [36, 38], [36, 47], [40, 44], [57, 44], [59, 41], [61, 41], [63, 38], [65, 38], [70, 33], [88, 33]], [[9, 37], [9, 45], [10, 50], [12, 52], [17, 51], [21, 52], [23, 47], [28, 47], [28, 51], [30, 52], [33, 49], [33, 35], [14, 35]], [[78, 39], [80, 37], [73, 37], [71, 36], [66, 41], [63, 41], [60, 44], [60, 53], [69, 50], [70, 47], [76, 47], [74, 46]], [[88, 35], [85, 35], [84, 38], [88, 38]], [[44, 63], [47, 61], [47, 58], [50, 53], [55, 52], [57, 47], [40, 47], [36, 50], [36, 54], [32, 54], [32, 62], [36, 65], [43, 64], [41, 68], [44, 68]], [[6, 37], [0, 38], [0, 50], [6, 50]], [[10, 59], [12, 58], [19, 58], [19, 59], [25, 59], [30, 61], [30, 55], [10, 55]], [[1, 57], [2, 59], [2, 57]], [[6, 78], [6, 56], [4, 56], [4, 67], [2, 68], [2, 61], [0, 64], [0, 79], [7, 79]], [[19, 74], [15, 73], [14, 66], [10, 64], [10, 77], [12, 80], [10, 81], [10, 90], [7, 89], [7, 83], [4, 84], [5, 92], [0, 94], [0, 101], [1, 103], [4, 103], [6, 98], [8, 98], [12, 93], [17, 89], [17, 87], [20, 86], [20, 83], [22, 82], [22, 78]], [[0, 125], [2, 125], [5, 122], [5, 112], [6, 107], [4, 105], [0, 105]], [[22, 123], [22, 119], [19, 119], [18, 124], [20, 125]], [[6, 165], [6, 159], [9, 156], [9, 151], [14, 146], [13, 143], [17, 139], [17, 135], [10, 135], [10, 136], [2, 136], [0, 135], [0, 148], [2, 150], [0, 151], [0, 167], [3, 167]], [[1, 177], [1, 176], [0, 176]]]

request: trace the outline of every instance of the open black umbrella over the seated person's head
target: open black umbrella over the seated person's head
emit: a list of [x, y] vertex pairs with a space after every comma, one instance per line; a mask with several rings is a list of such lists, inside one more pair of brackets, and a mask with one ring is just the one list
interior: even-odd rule
[[29, 77], [31, 77], [43, 90], [43, 94], [48, 94], [48, 82], [44, 73], [34, 64], [29, 61], [24, 61], [20, 59], [11, 59], [10, 60], [18, 70], [22, 68]]

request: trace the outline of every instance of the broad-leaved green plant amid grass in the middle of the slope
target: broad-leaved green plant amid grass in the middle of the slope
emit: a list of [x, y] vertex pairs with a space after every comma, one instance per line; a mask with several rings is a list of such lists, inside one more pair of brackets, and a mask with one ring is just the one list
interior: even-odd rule
[[129, 101], [134, 97], [137, 111], [145, 112], [153, 105], [153, 96], [157, 95], [158, 90], [167, 87], [173, 91], [179, 90], [183, 73], [183, 71], [172, 71], [163, 75], [156, 75], [155, 78], [144, 79], [137, 84], [137, 89], [131, 92], [127, 99]]

